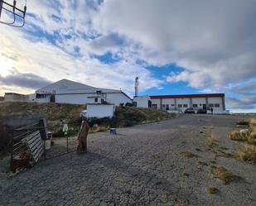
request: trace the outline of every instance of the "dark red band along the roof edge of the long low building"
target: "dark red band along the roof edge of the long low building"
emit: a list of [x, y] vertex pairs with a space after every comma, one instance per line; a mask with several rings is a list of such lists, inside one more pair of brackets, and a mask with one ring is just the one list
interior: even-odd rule
[[150, 98], [224, 98], [225, 93], [199, 93], [199, 94], [178, 94], [178, 95], [156, 95]]

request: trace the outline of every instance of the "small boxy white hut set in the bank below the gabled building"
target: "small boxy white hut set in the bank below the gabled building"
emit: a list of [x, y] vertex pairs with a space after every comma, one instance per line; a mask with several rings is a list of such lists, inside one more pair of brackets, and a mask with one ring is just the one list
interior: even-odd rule
[[87, 103], [87, 118], [113, 117], [115, 112], [114, 104]]

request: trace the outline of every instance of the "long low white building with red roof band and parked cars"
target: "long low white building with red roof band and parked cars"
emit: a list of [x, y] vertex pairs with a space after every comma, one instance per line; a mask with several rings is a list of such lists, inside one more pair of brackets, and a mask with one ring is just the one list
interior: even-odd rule
[[225, 113], [225, 93], [203, 93], [184, 95], [138, 96], [133, 98], [133, 105], [139, 108], [158, 108], [184, 113], [186, 108], [200, 108], [214, 113]]

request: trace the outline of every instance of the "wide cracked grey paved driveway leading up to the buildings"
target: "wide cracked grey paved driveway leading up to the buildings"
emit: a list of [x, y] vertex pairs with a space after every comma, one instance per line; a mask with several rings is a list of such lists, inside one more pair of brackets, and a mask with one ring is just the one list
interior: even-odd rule
[[[41, 161], [2, 178], [0, 205], [256, 205], [256, 166], [207, 150], [208, 136], [230, 153], [242, 147], [228, 137], [241, 118], [184, 115], [118, 129], [117, 136], [90, 134], [88, 153]], [[210, 162], [239, 179], [222, 184]], [[210, 186], [220, 192], [209, 194]]]

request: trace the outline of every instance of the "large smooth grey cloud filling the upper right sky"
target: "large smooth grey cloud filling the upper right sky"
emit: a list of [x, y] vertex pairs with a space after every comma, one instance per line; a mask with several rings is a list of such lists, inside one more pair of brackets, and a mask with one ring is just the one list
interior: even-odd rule
[[256, 77], [255, 18], [253, 0], [109, 0], [99, 7], [93, 22], [100, 33], [114, 32], [133, 42], [123, 56], [183, 68], [170, 72], [167, 82], [229, 92], [230, 84]]

